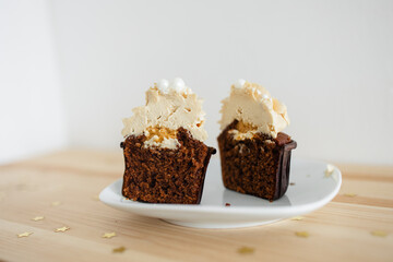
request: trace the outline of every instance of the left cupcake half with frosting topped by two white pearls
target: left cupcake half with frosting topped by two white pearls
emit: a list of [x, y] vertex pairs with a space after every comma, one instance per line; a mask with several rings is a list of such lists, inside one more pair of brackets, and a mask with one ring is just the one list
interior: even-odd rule
[[148, 203], [199, 204], [215, 148], [203, 143], [202, 100], [181, 79], [162, 80], [124, 119], [122, 194]]

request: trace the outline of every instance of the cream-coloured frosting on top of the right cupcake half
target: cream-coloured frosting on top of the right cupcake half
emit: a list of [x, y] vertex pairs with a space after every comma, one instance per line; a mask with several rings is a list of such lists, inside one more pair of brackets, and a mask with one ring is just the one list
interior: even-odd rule
[[234, 120], [239, 121], [237, 129], [230, 130], [237, 140], [250, 139], [257, 132], [276, 138], [289, 124], [286, 106], [273, 98], [263, 86], [245, 80], [231, 86], [221, 112], [222, 130]]

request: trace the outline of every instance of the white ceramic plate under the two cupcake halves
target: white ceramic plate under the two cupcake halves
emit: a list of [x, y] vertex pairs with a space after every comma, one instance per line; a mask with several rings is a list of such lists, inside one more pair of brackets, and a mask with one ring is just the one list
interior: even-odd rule
[[[99, 199], [105, 204], [133, 214], [162, 218], [171, 224], [199, 228], [235, 228], [273, 223], [299, 216], [329, 203], [338, 192], [341, 171], [335, 167], [325, 177], [326, 163], [293, 158], [288, 187], [283, 198], [269, 202], [225, 189], [217, 157], [211, 160], [199, 205], [148, 204], [121, 195], [122, 179], [105, 188]], [[295, 183], [295, 184], [294, 184]], [[230, 203], [230, 206], [225, 206]]]

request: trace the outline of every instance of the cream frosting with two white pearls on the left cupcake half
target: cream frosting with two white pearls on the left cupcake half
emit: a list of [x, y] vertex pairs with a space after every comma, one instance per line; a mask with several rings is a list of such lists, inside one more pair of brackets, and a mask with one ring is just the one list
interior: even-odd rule
[[144, 146], [176, 148], [180, 144], [176, 139], [179, 128], [188, 130], [192, 138], [205, 141], [205, 112], [202, 110], [202, 99], [177, 78], [171, 82], [160, 80], [146, 92], [146, 105], [132, 110], [130, 118], [123, 119], [124, 128], [121, 134], [146, 136]]

